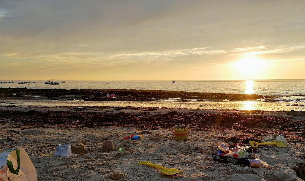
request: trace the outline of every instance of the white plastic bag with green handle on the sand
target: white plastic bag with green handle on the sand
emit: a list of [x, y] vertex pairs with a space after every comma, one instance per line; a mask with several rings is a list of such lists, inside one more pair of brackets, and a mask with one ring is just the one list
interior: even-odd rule
[[37, 181], [36, 169], [23, 148], [0, 154], [0, 181]]

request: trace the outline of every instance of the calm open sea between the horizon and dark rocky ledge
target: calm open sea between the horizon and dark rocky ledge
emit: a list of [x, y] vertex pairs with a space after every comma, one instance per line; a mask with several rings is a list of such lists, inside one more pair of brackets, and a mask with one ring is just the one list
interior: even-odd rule
[[[27, 87], [35, 89], [142, 89], [188, 92], [213, 92], [259, 95], [305, 94], [305, 81], [68, 81], [59, 85], [44, 82], [18, 84], [5, 83], [2, 87]], [[60, 81], [61, 82], [61, 81]], [[106, 84], [109, 83], [109, 84]]]

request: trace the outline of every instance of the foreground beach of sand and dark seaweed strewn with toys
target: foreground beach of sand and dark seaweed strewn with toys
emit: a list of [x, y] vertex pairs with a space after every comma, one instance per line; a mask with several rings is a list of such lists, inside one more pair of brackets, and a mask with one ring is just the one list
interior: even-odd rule
[[[305, 113], [117, 107], [0, 107], [1, 152], [23, 147], [38, 180], [285, 180], [305, 179]], [[188, 124], [188, 141], [175, 141], [172, 126]], [[249, 145], [273, 133], [285, 134], [287, 147], [260, 146], [268, 165], [251, 168], [214, 161], [218, 142]], [[140, 140], [123, 137], [141, 134]], [[105, 140], [115, 151], [102, 152]], [[84, 145], [76, 157], [48, 157], [57, 144]], [[118, 151], [122, 148], [123, 151]], [[183, 172], [164, 176], [138, 165], [151, 161]]]

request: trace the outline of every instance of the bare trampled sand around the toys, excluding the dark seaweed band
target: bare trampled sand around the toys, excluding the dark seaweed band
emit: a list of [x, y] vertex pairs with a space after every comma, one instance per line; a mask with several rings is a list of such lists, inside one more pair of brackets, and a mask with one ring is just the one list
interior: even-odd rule
[[[58, 109], [60, 110], [61, 108]], [[68, 111], [70, 108], [62, 108], [62, 110]], [[105, 110], [109, 114], [117, 114], [122, 111], [115, 111], [113, 108]], [[111, 110], [113, 112], [109, 112]], [[45, 108], [41, 111], [46, 112]], [[52, 111], [54, 110], [52, 109]], [[124, 111], [130, 112], [130, 114], [132, 112], [137, 114], [144, 112], [143, 110], [131, 109]], [[161, 114], [159, 112], [162, 111], [163, 114], [166, 114], [172, 110], [150, 111], [150, 113], [156, 115]], [[190, 110], [180, 111], [181, 113], [186, 113]], [[212, 111], [210, 113], [215, 114], [218, 112]], [[304, 119], [304, 116], [297, 114], [287, 115], [284, 112], [235, 112], [235, 114], [237, 113], [247, 116], [260, 114], [264, 116], [286, 115], [291, 120], [296, 121]], [[49, 119], [53, 118], [50, 117]], [[175, 141], [170, 127], [147, 131], [139, 127], [91, 126], [72, 128], [72, 126], [65, 125], [66, 127], [64, 128], [62, 126], [42, 126], [39, 124], [16, 124], [16, 121], [1, 118], [0, 121], [2, 124], [0, 152], [12, 147], [23, 147], [34, 163], [38, 180], [40, 181], [112, 180], [110, 175], [115, 173], [122, 174], [123, 178], [120, 181], [297, 181], [305, 178], [305, 145], [302, 140], [304, 133], [295, 130], [264, 130], [262, 128], [259, 130], [254, 128], [241, 130], [230, 127], [202, 127], [200, 130], [196, 130], [196, 127], [191, 125], [192, 130], [189, 133], [189, 140]], [[80, 122], [81, 119], [78, 121]], [[249, 138], [261, 140], [272, 133], [286, 134], [288, 146], [285, 148], [275, 146], [258, 147], [257, 155], [261, 160], [267, 162], [268, 166], [251, 168], [232, 163], [221, 163], [212, 159], [212, 154], [217, 151], [216, 144], [218, 142], [224, 142], [230, 147], [235, 147], [236, 145], [245, 145]], [[123, 137], [133, 134], [141, 134], [143, 138], [140, 140], [123, 139]], [[102, 152], [102, 144], [105, 140], [112, 140], [116, 150]], [[85, 153], [78, 154], [76, 157], [43, 156], [52, 155], [56, 144], [59, 143], [84, 144]], [[117, 151], [118, 148], [123, 148], [124, 150]], [[151, 161], [167, 168], [182, 170], [183, 173], [175, 177], [164, 176], [154, 168], [138, 165], [138, 161]]]

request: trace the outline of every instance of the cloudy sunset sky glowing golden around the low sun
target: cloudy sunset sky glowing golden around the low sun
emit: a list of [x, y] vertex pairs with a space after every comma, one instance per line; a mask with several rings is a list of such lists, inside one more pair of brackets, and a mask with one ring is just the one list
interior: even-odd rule
[[304, 0], [0, 0], [0, 80], [305, 79]]

